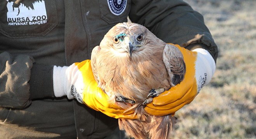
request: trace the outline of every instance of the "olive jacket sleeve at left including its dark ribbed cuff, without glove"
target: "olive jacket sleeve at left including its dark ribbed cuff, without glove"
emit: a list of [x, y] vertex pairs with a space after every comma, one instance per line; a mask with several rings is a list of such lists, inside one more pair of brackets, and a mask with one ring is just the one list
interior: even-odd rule
[[[47, 86], [37, 76], [45, 69], [49, 70], [50, 66], [33, 67], [33, 63], [34, 59], [28, 55], [12, 56], [7, 52], [0, 53], [0, 107], [24, 108], [31, 103], [31, 99], [53, 95], [53, 89], [52, 94], [42, 89]], [[40, 67], [44, 67], [44, 70]], [[44, 79], [50, 74], [45, 74]]]

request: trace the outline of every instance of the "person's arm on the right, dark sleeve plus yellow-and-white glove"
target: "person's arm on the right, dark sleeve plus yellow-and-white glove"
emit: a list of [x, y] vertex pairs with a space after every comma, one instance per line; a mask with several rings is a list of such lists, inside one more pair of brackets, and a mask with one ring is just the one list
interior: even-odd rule
[[[184, 80], [159, 97], [155, 97], [153, 102], [145, 107], [152, 115], [174, 113], [192, 102], [200, 92], [203, 86], [199, 84], [200, 75], [203, 78], [204, 73], [208, 73], [204, 85], [209, 83], [215, 71], [218, 48], [204, 24], [202, 15], [182, 0], [133, 0], [132, 4], [129, 15], [132, 22], [144, 25], [165, 42], [178, 44], [187, 49], [183, 51], [183, 56], [188, 57], [185, 61], [187, 73]], [[211, 68], [208, 70], [205, 65], [211, 65]], [[188, 73], [191, 73], [190, 76]]]

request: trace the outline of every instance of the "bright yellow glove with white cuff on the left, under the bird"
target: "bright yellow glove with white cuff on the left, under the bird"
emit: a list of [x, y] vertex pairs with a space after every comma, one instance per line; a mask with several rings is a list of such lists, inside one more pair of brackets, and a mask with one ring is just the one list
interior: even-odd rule
[[76, 98], [80, 103], [116, 119], [136, 119], [134, 111], [125, 112], [118, 105], [109, 103], [109, 97], [98, 87], [93, 77], [90, 60], [69, 67], [54, 66], [53, 74], [55, 97]]

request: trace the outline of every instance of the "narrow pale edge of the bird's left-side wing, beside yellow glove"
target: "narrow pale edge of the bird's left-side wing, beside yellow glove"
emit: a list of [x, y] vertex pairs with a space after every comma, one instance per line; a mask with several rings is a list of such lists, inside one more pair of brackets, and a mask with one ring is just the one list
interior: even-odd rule
[[95, 81], [99, 84], [99, 76], [97, 72], [97, 54], [100, 51], [100, 46], [95, 46], [92, 49], [92, 56], [91, 56], [91, 66], [92, 66], [92, 73], [94, 76]]

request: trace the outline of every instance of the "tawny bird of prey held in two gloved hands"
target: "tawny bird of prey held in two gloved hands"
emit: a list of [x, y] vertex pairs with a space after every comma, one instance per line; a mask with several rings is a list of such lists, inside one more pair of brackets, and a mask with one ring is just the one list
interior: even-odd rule
[[144, 111], [153, 97], [183, 80], [186, 67], [178, 48], [146, 27], [119, 23], [94, 47], [92, 71], [99, 87], [116, 103], [134, 110], [137, 119], [119, 119], [119, 128], [135, 139], [170, 138], [173, 117]]

